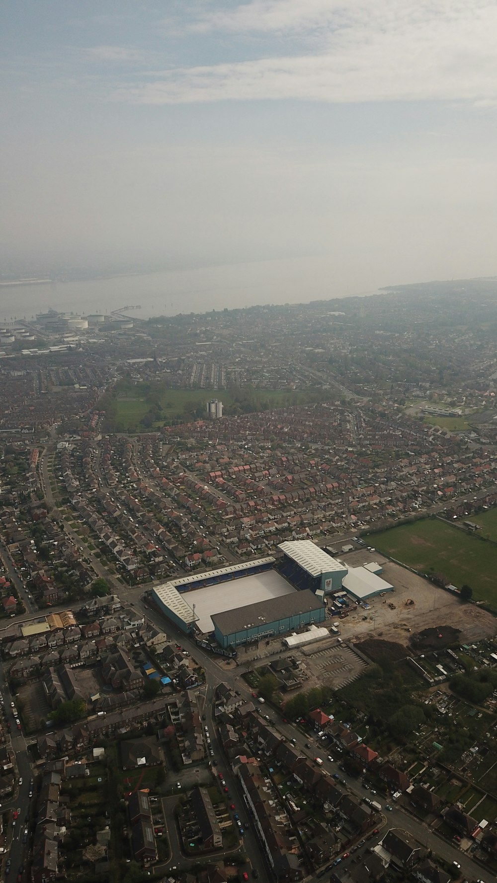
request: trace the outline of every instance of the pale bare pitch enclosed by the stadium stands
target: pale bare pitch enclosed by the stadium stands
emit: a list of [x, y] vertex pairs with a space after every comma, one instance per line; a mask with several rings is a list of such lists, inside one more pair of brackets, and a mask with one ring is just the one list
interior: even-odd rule
[[224, 613], [233, 607], [247, 607], [260, 601], [279, 599], [294, 592], [294, 586], [287, 583], [276, 570], [264, 570], [248, 577], [193, 589], [181, 597], [187, 598], [192, 607], [195, 604], [196, 625], [205, 634], [214, 631], [213, 614]]

